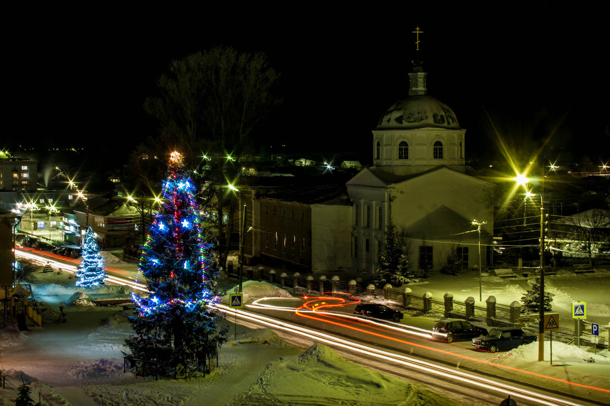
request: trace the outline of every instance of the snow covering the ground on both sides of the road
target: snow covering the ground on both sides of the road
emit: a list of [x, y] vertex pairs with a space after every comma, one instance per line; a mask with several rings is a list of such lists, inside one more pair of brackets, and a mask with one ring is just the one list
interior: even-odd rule
[[[50, 310], [45, 313], [45, 327], [21, 333], [0, 330], [0, 369], [7, 376], [7, 387], [0, 390], [0, 406], [13, 404], [22, 377], [32, 383], [34, 399], [37, 401], [40, 393], [49, 406], [454, 404], [403, 380], [354, 365], [321, 344], [303, 351], [284, 343], [270, 330], [245, 327], [240, 327], [244, 330], [236, 340], [229, 336], [231, 341], [221, 348], [218, 368], [205, 378], [156, 381], [130, 372], [123, 374], [121, 351], [126, 350], [123, 340], [131, 333], [131, 326], [122, 308], [67, 303], [79, 291], [96, 298], [117, 297], [127, 292], [110, 286], [83, 290], [74, 287], [75, 281], [65, 273], [35, 274], [30, 281], [34, 282], [35, 295]], [[528, 288], [527, 281], [521, 276], [515, 280], [484, 276], [483, 301], [492, 294], [498, 303], [519, 301]], [[610, 321], [607, 270], [580, 276], [561, 271], [547, 281], [549, 290], [556, 293], [554, 310], [567, 304], [569, 311], [571, 301], [584, 299], [590, 317], [598, 318], [598, 322]], [[471, 272], [462, 277], [432, 276], [408, 287], [416, 294], [430, 291], [437, 299], [451, 291], [456, 299], [464, 300], [468, 296], [478, 299], [478, 282], [478, 273]], [[249, 301], [265, 296], [291, 296], [269, 283], [246, 281], [243, 290]], [[60, 302], [66, 303], [68, 322], [57, 321]], [[562, 321], [567, 317], [571, 322], [569, 316], [564, 316], [565, 310], [560, 312]], [[224, 322], [230, 324], [231, 316]], [[403, 319], [403, 324], [422, 322], [428, 327], [433, 324], [432, 318], [422, 315], [407, 314]], [[550, 350], [550, 343], [545, 342], [545, 346]], [[595, 362], [587, 362], [589, 358]], [[498, 353], [490, 361], [534, 372], [546, 368], [544, 373], [548, 374], [548, 360], [533, 366], [532, 361], [536, 360], [537, 343], [533, 343]], [[597, 379], [594, 382], [598, 385], [608, 387], [608, 360], [607, 350], [594, 355], [588, 348], [553, 343], [554, 376], [561, 379], [572, 379], [573, 371], [579, 371], [588, 379]]]

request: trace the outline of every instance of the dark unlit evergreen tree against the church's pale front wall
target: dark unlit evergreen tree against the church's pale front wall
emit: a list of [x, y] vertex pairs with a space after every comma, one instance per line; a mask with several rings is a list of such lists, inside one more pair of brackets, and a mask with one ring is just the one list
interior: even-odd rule
[[377, 273], [376, 283], [383, 287], [386, 283], [392, 286], [402, 286], [407, 282], [406, 274], [409, 271], [409, 262], [404, 248], [398, 244], [394, 223], [390, 221], [386, 230], [386, 244], [384, 251], [379, 255], [381, 269]]

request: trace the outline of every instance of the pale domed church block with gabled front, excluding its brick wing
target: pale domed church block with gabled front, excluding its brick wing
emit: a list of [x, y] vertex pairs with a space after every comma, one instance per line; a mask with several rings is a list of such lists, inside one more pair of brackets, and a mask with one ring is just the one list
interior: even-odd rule
[[[346, 187], [353, 202], [351, 269], [381, 267], [390, 221], [406, 243], [411, 272], [448, 263], [476, 268], [492, 242], [493, 187], [465, 165], [465, 133], [451, 108], [426, 89], [422, 63], [409, 73], [409, 96], [382, 113], [373, 130], [373, 166]], [[473, 221], [476, 221], [473, 224]]]

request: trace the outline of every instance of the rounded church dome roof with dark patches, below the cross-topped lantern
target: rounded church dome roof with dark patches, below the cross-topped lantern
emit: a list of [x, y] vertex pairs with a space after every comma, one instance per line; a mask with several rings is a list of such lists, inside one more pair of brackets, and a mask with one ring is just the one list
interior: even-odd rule
[[409, 130], [417, 128], [459, 129], [451, 108], [428, 94], [410, 96], [395, 102], [379, 119], [378, 130]]

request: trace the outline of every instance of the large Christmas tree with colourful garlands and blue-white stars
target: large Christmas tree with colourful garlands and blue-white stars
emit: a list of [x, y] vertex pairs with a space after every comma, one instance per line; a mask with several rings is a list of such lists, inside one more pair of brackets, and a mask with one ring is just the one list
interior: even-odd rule
[[[132, 294], [136, 308], [129, 320], [136, 335], [125, 340], [134, 358], [157, 361], [162, 368], [201, 364], [225, 343], [219, 302], [218, 270], [210, 263], [196, 188], [185, 173], [182, 156], [171, 154], [163, 183], [163, 204], [154, 216], [142, 249], [139, 271], [148, 297]], [[167, 369], [166, 369], [167, 370]]]

